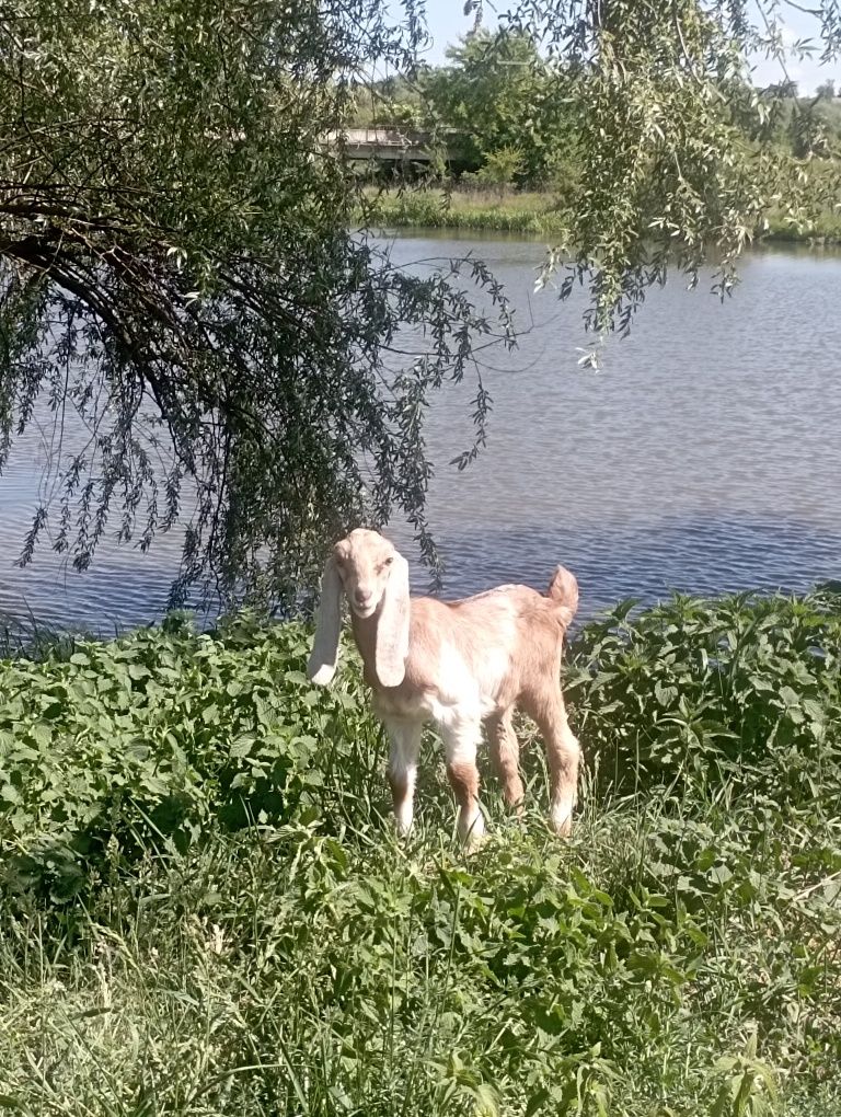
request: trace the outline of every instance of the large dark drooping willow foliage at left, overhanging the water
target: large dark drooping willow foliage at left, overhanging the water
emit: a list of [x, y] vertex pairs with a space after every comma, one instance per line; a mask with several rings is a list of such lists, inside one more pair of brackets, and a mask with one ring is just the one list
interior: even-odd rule
[[[34, 419], [60, 448], [25, 561], [48, 533], [84, 567], [181, 515], [175, 598], [212, 575], [290, 600], [395, 506], [431, 552], [427, 395], [509, 336], [505, 304], [479, 264], [399, 269], [353, 232], [325, 139], [421, 34], [375, 0], [3, 4], [0, 466]], [[480, 441], [480, 380], [475, 410]]]

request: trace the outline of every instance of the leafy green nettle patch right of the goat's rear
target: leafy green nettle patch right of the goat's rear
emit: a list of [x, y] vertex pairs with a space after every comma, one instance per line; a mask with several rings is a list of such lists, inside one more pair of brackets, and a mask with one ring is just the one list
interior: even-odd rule
[[575, 641], [565, 693], [602, 787], [732, 805], [841, 792], [841, 599], [627, 602]]

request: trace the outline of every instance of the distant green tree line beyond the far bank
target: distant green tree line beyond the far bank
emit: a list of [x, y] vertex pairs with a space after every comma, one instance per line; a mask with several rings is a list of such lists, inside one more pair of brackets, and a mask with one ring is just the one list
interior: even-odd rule
[[[421, 67], [357, 88], [355, 123], [403, 125], [447, 140], [465, 181], [574, 189], [581, 71], [544, 57], [525, 31], [484, 29]], [[753, 89], [723, 83], [721, 115], [755, 144], [796, 159], [841, 157], [841, 98], [826, 79], [813, 96], [783, 80]], [[446, 170], [441, 168], [441, 170]], [[460, 175], [462, 176], [462, 175]]]

